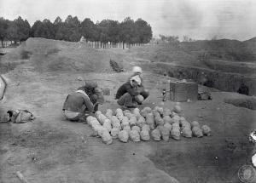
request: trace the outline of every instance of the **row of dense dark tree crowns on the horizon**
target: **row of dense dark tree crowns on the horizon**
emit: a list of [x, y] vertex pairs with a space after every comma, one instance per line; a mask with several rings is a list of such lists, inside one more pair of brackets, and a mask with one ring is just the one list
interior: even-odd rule
[[148, 43], [152, 38], [152, 28], [143, 19], [125, 18], [117, 20], [102, 20], [96, 24], [89, 18], [80, 21], [77, 16], [68, 15], [66, 20], [58, 16], [54, 22], [44, 19], [37, 20], [30, 26], [27, 20], [20, 16], [15, 20], [0, 17], [0, 40], [22, 42], [28, 37], [44, 37], [48, 39], [78, 42], [81, 37], [87, 41], [102, 43]]

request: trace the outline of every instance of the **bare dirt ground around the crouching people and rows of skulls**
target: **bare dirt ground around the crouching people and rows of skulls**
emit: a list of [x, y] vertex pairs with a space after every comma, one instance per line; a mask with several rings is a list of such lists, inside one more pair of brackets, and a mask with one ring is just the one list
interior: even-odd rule
[[[70, 92], [83, 85], [78, 77], [96, 80], [110, 89], [100, 106], [119, 107], [113, 95], [131, 73], [78, 73], [77, 71], [40, 72], [24, 62], [4, 75], [9, 88], [0, 112], [27, 109], [36, 119], [31, 123], [0, 124], [0, 177], [3, 183], [20, 182], [20, 171], [28, 182], [239, 182], [238, 169], [251, 164], [256, 152], [248, 134], [256, 129], [256, 111], [224, 103], [241, 94], [212, 92], [213, 100], [182, 102], [182, 116], [212, 129], [212, 136], [181, 140], [122, 143], [113, 140], [107, 146], [100, 138], [91, 137], [87, 124], [68, 122], [61, 113]], [[173, 79], [150, 72], [143, 73], [149, 98], [143, 106], [172, 108], [174, 102], [161, 102], [161, 89]], [[256, 182], [256, 178], [255, 181]]]

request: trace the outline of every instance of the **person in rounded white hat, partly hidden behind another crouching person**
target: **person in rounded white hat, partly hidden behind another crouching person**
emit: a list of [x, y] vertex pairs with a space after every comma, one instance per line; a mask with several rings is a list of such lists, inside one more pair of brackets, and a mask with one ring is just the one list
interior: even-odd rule
[[136, 77], [136, 76], [140, 77], [140, 79], [141, 79], [141, 82], [137, 86], [137, 90], [138, 90], [139, 94], [143, 97], [141, 97], [141, 96], [138, 97], [139, 98], [138, 101], [137, 101], [138, 105], [141, 105], [143, 100], [146, 100], [149, 96], [148, 89], [144, 89], [143, 78], [141, 76], [142, 73], [143, 73], [143, 70], [140, 66], [134, 66], [132, 68], [132, 75], [128, 79], [128, 80], [131, 80], [132, 77]]

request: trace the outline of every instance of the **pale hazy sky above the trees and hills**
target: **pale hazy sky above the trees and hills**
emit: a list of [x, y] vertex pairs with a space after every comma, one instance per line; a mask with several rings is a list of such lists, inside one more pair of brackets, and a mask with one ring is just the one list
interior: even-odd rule
[[67, 15], [95, 23], [104, 19], [122, 21], [142, 18], [159, 34], [193, 39], [256, 37], [255, 0], [0, 0], [0, 17], [18, 16], [36, 20], [62, 20]]

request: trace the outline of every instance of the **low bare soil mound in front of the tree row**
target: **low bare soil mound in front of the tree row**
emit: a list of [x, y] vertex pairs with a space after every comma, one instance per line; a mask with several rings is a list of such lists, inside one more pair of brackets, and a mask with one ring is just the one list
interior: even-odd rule
[[29, 60], [36, 71], [112, 71], [109, 60], [119, 55], [107, 49], [90, 49], [83, 43], [72, 43], [44, 38], [29, 38], [3, 56], [3, 63]]

